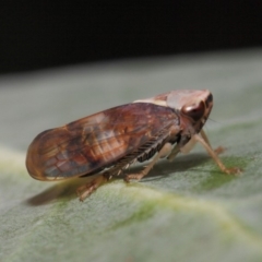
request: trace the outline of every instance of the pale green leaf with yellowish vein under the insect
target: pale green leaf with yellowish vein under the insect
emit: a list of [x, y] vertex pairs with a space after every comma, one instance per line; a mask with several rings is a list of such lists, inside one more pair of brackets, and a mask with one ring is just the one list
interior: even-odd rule
[[[262, 261], [262, 51], [122, 61], [0, 79], [0, 261]], [[121, 178], [83, 203], [90, 178], [40, 182], [25, 169], [40, 131], [170, 90], [209, 88], [198, 145], [140, 182]], [[131, 171], [141, 169], [134, 166]]]

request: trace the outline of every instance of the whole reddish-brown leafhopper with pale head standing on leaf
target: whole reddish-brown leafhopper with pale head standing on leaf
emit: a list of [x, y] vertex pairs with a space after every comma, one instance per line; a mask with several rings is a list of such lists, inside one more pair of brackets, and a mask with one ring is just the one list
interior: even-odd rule
[[35, 179], [52, 181], [99, 174], [78, 189], [83, 201], [131, 164], [155, 155], [141, 172], [127, 175], [126, 181], [140, 180], [160, 157], [172, 160], [200, 142], [223, 172], [239, 172], [223, 165], [202, 130], [212, 106], [207, 90], [171, 91], [46, 130], [28, 147], [27, 170]]

